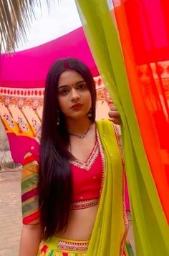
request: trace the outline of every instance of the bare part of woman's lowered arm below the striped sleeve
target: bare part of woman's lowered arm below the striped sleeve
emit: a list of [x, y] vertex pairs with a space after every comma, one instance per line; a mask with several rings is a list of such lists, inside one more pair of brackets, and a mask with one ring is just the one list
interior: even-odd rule
[[24, 225], [21, 230], [19, 256], [37, 256], [42, 240], [41, 224]]

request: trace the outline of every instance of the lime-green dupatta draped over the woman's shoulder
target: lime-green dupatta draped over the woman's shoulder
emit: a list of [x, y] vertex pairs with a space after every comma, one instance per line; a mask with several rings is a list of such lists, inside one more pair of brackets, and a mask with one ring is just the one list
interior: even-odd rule
[[105, 154], [105, 173], [87, 256], [120, 256], [126, 236], [122, 158], [112, 123], [97, 121], [97, 128]]

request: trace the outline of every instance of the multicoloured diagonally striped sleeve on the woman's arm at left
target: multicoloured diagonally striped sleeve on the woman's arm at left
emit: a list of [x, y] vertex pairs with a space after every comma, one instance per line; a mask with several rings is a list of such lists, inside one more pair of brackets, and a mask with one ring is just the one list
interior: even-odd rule
[[21, 178], [21, 209], [24, 224], [39, 223], [38, 162], [32, 153], [26, 153]]

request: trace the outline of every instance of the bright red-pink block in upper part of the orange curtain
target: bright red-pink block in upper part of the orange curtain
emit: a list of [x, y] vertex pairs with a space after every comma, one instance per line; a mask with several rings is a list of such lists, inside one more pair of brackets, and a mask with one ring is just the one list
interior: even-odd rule
[[168, 60], [168, 0], [127, 0], [124, 7], [137, 65]]

